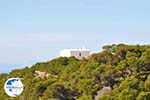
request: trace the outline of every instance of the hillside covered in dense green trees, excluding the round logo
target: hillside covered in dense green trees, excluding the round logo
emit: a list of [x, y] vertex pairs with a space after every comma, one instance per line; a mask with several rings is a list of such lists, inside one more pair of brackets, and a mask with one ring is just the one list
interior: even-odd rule
[[[5, 81], [21, 78], [10, 98]], [[150, 46], [107, 45], [88, 59], [60, 57], [0, 74], [0, 100], [150, 100]]]

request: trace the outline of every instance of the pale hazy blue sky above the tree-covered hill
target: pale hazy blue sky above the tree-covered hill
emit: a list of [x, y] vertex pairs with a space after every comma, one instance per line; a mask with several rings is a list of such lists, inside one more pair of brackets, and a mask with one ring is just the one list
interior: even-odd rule
[[0, 0], [0, 73], [59, 51], [150, 43], [149, 0]]

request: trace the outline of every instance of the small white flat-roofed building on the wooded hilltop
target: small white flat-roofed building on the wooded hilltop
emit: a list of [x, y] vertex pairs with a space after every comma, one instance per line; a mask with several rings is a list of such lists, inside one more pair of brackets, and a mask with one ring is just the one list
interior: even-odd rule
[[60, 57], [71, 57], [74, 56], [78, 59], [87, 58], [90, 56], [88, 49], [65, 49], [60, 51]]

